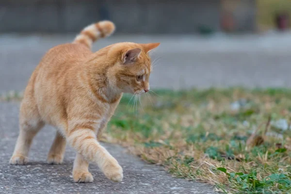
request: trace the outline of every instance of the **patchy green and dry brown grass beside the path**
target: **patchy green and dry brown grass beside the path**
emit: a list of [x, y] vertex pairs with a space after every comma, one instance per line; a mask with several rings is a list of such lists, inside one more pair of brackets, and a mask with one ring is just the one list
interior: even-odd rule
[[[107, 140], [163, 165], [175, 177], [214, 184], [225, 193], [291, 192], [291, 90], [155, 93], [151, 99], [144, 95], [137, 107], [125, 95]], [[254, 139], [261, 139], [247, 145], [255, 129]]]

